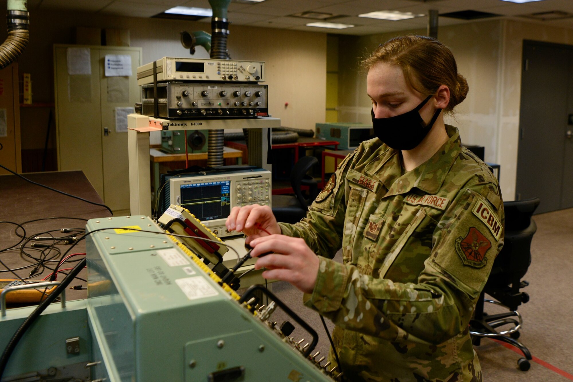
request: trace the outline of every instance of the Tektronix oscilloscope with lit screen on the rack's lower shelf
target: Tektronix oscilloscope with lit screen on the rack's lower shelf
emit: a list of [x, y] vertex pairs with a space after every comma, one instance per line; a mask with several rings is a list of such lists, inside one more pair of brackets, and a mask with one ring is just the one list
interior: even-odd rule
[[249, 204], [270, 206], [270, 179], [270, 171], [257, 167], [166, 175], [160, 191], [160, 212], [176, 204], [187, 208], [218, 237], [236, 235], [225, 231], [231, 208]]

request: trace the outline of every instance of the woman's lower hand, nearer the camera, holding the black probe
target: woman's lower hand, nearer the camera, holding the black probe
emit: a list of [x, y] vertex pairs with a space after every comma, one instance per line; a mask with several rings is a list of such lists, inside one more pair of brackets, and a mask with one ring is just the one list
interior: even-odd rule
[[290, 282], [304, 293], [312, 293], [319, 271], [319, 258], [300, 238], [270, 235], [254, 239], [252, 257], [258, 258], [254, 269], [265, 267], [262, 277]]

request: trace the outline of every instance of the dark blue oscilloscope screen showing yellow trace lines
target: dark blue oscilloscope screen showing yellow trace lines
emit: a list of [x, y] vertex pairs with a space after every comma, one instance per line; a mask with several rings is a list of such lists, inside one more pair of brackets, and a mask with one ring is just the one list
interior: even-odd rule
[[225, 219], [231, 213], [231, 182], [182, 184], [181, 207], [199, 220]]

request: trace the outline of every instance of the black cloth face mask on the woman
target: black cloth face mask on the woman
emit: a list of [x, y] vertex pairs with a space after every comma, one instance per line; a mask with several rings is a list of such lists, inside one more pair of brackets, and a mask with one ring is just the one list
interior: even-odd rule
[[388, 118], [375, 118], [372, 114], [372, 127], [374, 134], [388, 147], [397, 150], [411, 150], [424, 139], [426, 134], [438, 119], [442, 109], [437, 109], [429, 124], [425, 124], [418, 111], [430, 100], [431, 94], [417, 107], [409, 112]]

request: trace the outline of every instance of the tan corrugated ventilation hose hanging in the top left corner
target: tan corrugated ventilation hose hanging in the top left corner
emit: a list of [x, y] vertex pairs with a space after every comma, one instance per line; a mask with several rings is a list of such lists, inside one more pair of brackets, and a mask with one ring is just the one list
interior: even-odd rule
[[6, 11], [8, 37], [0, 45], [0, 69], [17, 60], [26, 49], [29, 40], [29, 20], [25, 0], [8, 0]]

